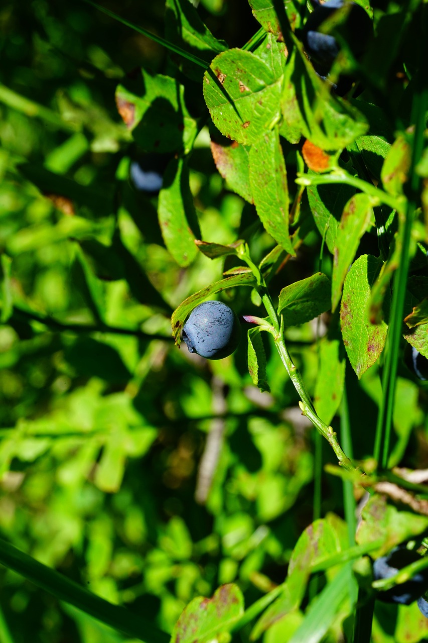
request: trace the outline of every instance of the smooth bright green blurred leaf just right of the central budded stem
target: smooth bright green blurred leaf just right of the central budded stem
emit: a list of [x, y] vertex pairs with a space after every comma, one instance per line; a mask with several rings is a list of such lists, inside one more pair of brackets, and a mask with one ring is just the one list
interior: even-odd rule
[[321, 420], [329, 426], [341, 403], [345, 367], [343, 343], [338, 338], [319, 342], [319, 365], [314, 392], [314, 406]]

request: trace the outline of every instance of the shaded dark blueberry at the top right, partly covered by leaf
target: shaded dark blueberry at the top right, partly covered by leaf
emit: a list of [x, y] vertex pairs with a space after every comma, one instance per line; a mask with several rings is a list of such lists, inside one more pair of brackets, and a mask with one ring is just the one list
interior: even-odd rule
[[328, 73], [340, 49], [335, 37], [330, 33], [323, 33], [320, 28], [327, 19], [333, 22], [336, 10], [345, 5], [350, 5], [350, 10], [344, 23], [337, 24], [337, 29], [355, 57], [366, 50], [373, 33], [370, 17], [357, 3], [349, 0], [326, 0], [323, 5], [316, 5], [303, 28], [303, 44], [320, 75]]

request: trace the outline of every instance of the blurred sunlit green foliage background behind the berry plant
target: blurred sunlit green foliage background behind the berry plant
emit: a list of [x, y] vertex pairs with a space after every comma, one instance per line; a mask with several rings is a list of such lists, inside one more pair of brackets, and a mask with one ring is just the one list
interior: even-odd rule
[[[109, 8], [164, 33], [162, 2]], [[258, 28], [244, 1], [204, 0], [199, 12], [229, 46]], [[114, 100], [136, 69], [168, 74], [172, 63], [84, 3], [6, 1], [0, 29], [1, 535], [167, 631], [218, 584], [238, 581], [251, 602], [283, 581], [312, 521], [314, 431], [269, 346], [271, 394], [251, 383], [245, 341], [211, 363], [174, 347], [171, 312], [223, 266], [198, 255], [183, 269], [166, 250], [156, 197], [130, 180], [139, 150]], [[262, 258], [272, 239], [225, 189], [206, 127], [189, 163], [202, 239], [244, 237]], [[272, 288], [312, 274], [320, 247], [309, 230]], [[240, 314], [260, 310], [249, 289], [224, 298]], [[288, 332], [313, 393], [317, 327]], [[401, 368], [397, 462], [424, 467], [427, 394]], [[364, 458], [379, 377], [348, 376]], [[326, 447], [322, 457], [334, 462]], [[322, 484], [321, 514], [343, 516], [341, 483]], [[126, 640], [5, 568], [0, 586], [13, 643]]]

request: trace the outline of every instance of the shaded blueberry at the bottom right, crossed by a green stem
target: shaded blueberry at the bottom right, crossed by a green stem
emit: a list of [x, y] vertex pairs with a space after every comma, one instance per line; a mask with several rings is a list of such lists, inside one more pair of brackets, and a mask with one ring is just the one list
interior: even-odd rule
[[[418, 560], [420, 560], [420, 554], [417, 552], [406, 549], [406, 547], [396, 547], [389, 552], [388, 556], [382, 556], [373, 563], [375, 580], [390, 578], [403, 567]], [[406, 583], [396, 585], [390, 590], [386, 590], [386, 592], [379, 592], [378, 597], [381, 601], [409, 605], [411, 602], [416, 601], [427, 588], [428, 570], [425, 569], [415, 574]]]

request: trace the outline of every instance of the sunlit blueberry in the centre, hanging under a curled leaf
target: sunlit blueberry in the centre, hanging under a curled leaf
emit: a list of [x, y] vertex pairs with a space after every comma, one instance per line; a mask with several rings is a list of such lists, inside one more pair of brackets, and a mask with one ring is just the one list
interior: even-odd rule
[[222, 302], [204, 302], [193, 309], [183, 328], [189, 352], [207, 359], [233, 353], [241, 338], [238, 316]]

